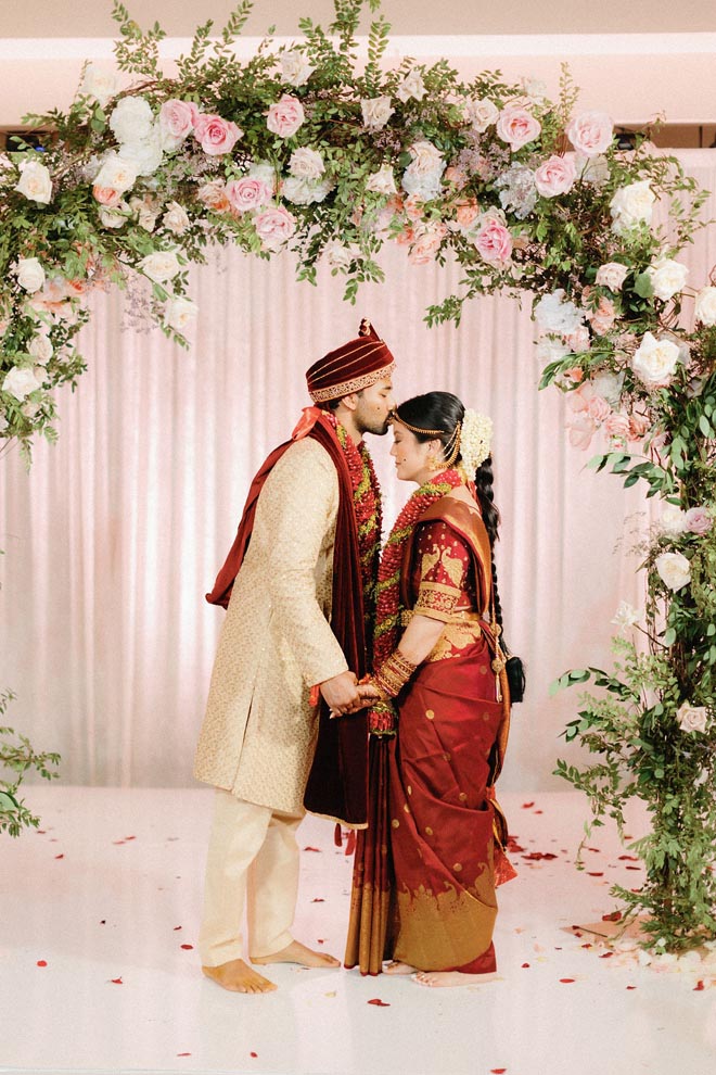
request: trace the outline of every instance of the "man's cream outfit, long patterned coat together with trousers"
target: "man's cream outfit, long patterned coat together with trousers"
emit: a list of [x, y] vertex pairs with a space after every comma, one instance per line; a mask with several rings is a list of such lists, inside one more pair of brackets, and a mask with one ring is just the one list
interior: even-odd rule
[[[200, 948], [204, 965], [289, 944], [295, 829], [318, 729], [309, 688], [347, 665], [331, 631], [338, 480], [305, 438], [269, 473], [219, 640], [194, 774], [219, 791]], [[227, 794], [229, 793], [229, 794]]]

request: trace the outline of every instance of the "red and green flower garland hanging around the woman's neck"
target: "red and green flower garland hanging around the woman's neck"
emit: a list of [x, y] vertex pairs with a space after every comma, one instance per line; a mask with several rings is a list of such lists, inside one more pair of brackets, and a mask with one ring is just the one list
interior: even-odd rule
[[[373, 662], [380, 668], [398, 644], [400, 624], [400, 570], [406, 543], [423, 513], [442, 496], [462, 484], [461, 475], [443, 470], [412, 494], [395, 521], [385, 543], [378, 570], [378, 606], [375, 609], [375, 635]], [[395, 710], [392, 703], [379, 701], [369, 713], [369, 726], [374, 734], [389, 734], [395, 729]]]

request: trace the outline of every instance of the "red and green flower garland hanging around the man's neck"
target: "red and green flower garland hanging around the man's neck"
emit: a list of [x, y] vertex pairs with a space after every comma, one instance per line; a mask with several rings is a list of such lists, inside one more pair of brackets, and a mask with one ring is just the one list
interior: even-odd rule
[[338, 443], [343, 448], [353, 486], [353, 505], [358, 527], [360, 571], [363, 581], [366, 641], [370, 655], [378, 594], [378, 564], [383, 529], [381, 488], [373, 467], [373, 460], [366, 444], [362, 441], [360, 445], [355, 444], [341, 422], [333, 415], [329, 417], [331, 425], [335, 428]]

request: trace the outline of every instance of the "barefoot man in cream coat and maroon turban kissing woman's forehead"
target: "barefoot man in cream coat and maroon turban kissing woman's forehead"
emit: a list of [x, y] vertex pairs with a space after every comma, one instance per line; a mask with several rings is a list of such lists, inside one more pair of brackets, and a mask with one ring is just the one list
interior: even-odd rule
[[393, 369], [367, 320], [310, 367], [314, 406], [254, 479], [207, 595], [228, 610], [194, 769], [217, 788], [200, 951], [204, 974], [232, 991], [276, 988], [243, 959], [244, 909], [251, 963], [340, 965], [290, 933], [296, 830], [306, 809], [367, 820], [366, 717], [331, 717], [361, 707], [380, 543], [362, 438], [387, 432]]

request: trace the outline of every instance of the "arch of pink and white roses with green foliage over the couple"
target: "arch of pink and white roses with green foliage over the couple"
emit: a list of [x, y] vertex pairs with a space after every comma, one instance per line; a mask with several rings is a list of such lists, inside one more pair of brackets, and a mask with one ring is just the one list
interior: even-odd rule
[[[566, 730], [592, 763], [558, 771], [587, 794], [593, 823], [622, 825], [634, 795], [647, 804], [652, 832], [635, 847], [647, 880], [616, 895], [651, 916], [652, 944], [713, 939], [716, 287], [689, 291], [676, 260], [704, 226], [705, 195], [647, 142], [621, 152], [605, 115], [576, 110], [566, 73], [552, 102], [496, 74], [464, 84], [445, 61], [386, 69], [381, 15], [359, 63], [362, 0], [335, 0], [328, 33], [305, 18], [297, 43], [269, 38], [240, 62], [232, 41], [251, 7], [218, 39], [200, 27], [168, 78], [162, 30], [142, 33], [115, 0], [124, 83], [87, 66], [67, 113], [28, 117], [49, 131], [42, 151], [21, 144], [0, 172], [0, 437], [28, 458], [33, 437], [55, 437], [53, 390], [85, 368], [74, 340], [91, 289], [139, 281], [182, 342], [196, 314], [187, 267], [210, 243], [293, 250], [311, 282], [323, 258], [350, 302], [382, 278], [384, 243], [417, 263], [451, 257], [462, 290], [429, 308], [430, 324], [459, 324], [477, 295], [530, 293], [540, 387], [568, 394], [571, 440], [598, 433], [591, 465], [662, 502], [645, 612], [619, 616], [647, 643], [622, 636], [613, 671], [553, 684], [600, 692], [580, 697]], [[657, 200], [666, 227], [653, 224]], [[691, 328], [681, 307], [694, 293]]]

